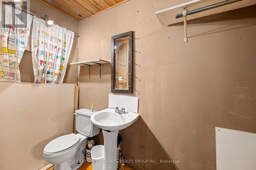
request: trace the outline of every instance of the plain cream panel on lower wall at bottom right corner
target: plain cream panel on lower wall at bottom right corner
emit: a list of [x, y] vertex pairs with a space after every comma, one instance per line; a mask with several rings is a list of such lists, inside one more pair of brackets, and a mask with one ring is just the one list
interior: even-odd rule
[[256, 133], [215, 128], [217, 170], [255, 170]]

